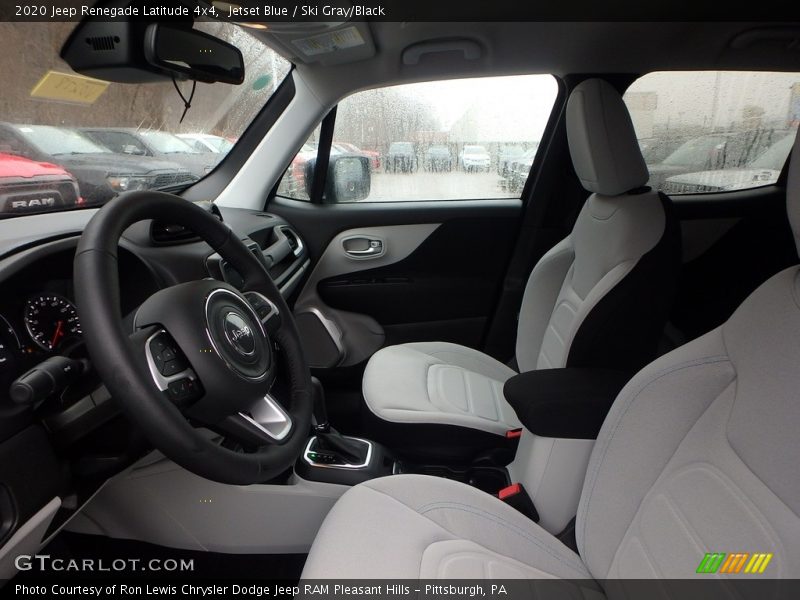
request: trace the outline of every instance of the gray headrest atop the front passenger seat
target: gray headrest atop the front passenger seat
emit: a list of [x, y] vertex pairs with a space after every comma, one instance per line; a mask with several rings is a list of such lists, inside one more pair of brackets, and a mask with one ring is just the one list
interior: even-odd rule
[[584, 188], [618, 196], [650, 178], [622, 96], [603, 79], [587, 79], [567, 101], [567, 139]]

